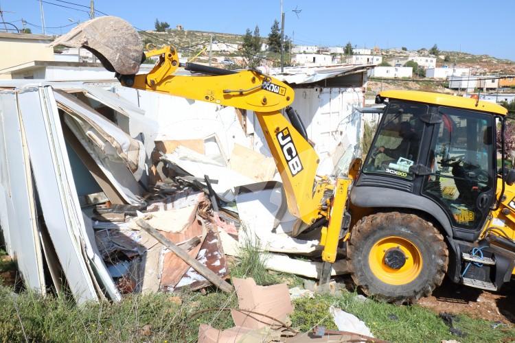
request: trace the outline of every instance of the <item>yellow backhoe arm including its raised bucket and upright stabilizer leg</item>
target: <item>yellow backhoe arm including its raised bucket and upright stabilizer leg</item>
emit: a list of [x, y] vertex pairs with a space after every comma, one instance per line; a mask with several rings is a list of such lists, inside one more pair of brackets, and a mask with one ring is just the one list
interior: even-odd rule
[[[281, 175], [290, 213], [309, 225], [317, 220], [327, 221], [323, 222], [321, 245], [322, 259], [328, 263], [323, 267], [321, 281], [328, 281], [351, 181], [339, 178], [334, 182], [317, 176], [319, 157], [299, 116], [290, 107], [295, 97], [290, 86], [255, 70], [229, 71], [181, 64], [171, 46], [150, 50], [142, 56], [139, 34], [115, 16], [81, 23], [52, 45], [88, 49], [127, 87], [253, 110]], [[159, 61], [150, 73], [137, 73], [142, 60], [156, 56]], [[184, 75], [180, 67], [190, 73]], [[288, 119], [281, 113], [283, 109]]]

